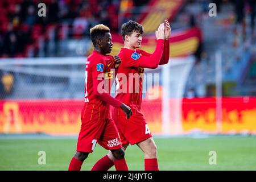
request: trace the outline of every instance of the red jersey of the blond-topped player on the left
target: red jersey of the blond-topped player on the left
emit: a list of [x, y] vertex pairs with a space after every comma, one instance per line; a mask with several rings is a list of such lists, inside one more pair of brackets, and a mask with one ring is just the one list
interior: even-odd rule
[[[121, 106], [122, 102], [110, 96], [110, 80], [114, 77], [114, 57], [93, 51], [86, 61], [85, 98], [81, 119], [109, 118], [109, 104]], [[102, 84], [105, 82], [104, 84]], [[104, 88], [109, 86], [109, 88]]]

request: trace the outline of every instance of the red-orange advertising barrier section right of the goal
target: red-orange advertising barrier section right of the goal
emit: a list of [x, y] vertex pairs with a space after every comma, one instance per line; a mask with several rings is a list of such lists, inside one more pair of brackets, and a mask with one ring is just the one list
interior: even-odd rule
[[[216, 99], [183, 99], [183, 131], [217, 131]], [[256, 98], [222, 98], [221, 133], [256, 133]]]

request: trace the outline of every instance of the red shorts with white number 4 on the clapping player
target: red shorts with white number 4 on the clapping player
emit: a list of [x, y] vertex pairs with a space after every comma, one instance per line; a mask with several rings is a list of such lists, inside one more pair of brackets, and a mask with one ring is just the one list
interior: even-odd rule
[[143, 114], [136, 113], [126, 119], [126, 115], [113, 114], [122, 144], [135, 144], [152, 137]]

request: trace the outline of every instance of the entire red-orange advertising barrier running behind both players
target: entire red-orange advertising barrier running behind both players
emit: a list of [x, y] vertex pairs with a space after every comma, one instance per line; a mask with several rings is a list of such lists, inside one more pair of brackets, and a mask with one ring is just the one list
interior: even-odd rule
[[[193, 130], [205, 133], [217, 131], [215, 98], [184, 98], [181, 102], [180, 125], [184, 133]], [[77, 135], [80, 130], [82, 105], [82, 100], [0, 101], [0, 133]], [[161, 100], [144, 100], [142, 113], [151, 132], [161, 134]], [[170, 127], [172, 128], [172, 121]], [[256, 98], [222, 98], [221, 133], [245, 131], [256, 133]]]

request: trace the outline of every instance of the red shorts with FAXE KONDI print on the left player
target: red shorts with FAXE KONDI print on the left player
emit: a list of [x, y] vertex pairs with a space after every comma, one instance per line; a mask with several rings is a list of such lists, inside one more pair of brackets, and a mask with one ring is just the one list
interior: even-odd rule
[[82, 120], [76, 150], [92, 153], [96, 143], [106, 150], [115, 150], [122, 147], [117, 127], [112, 118]]

